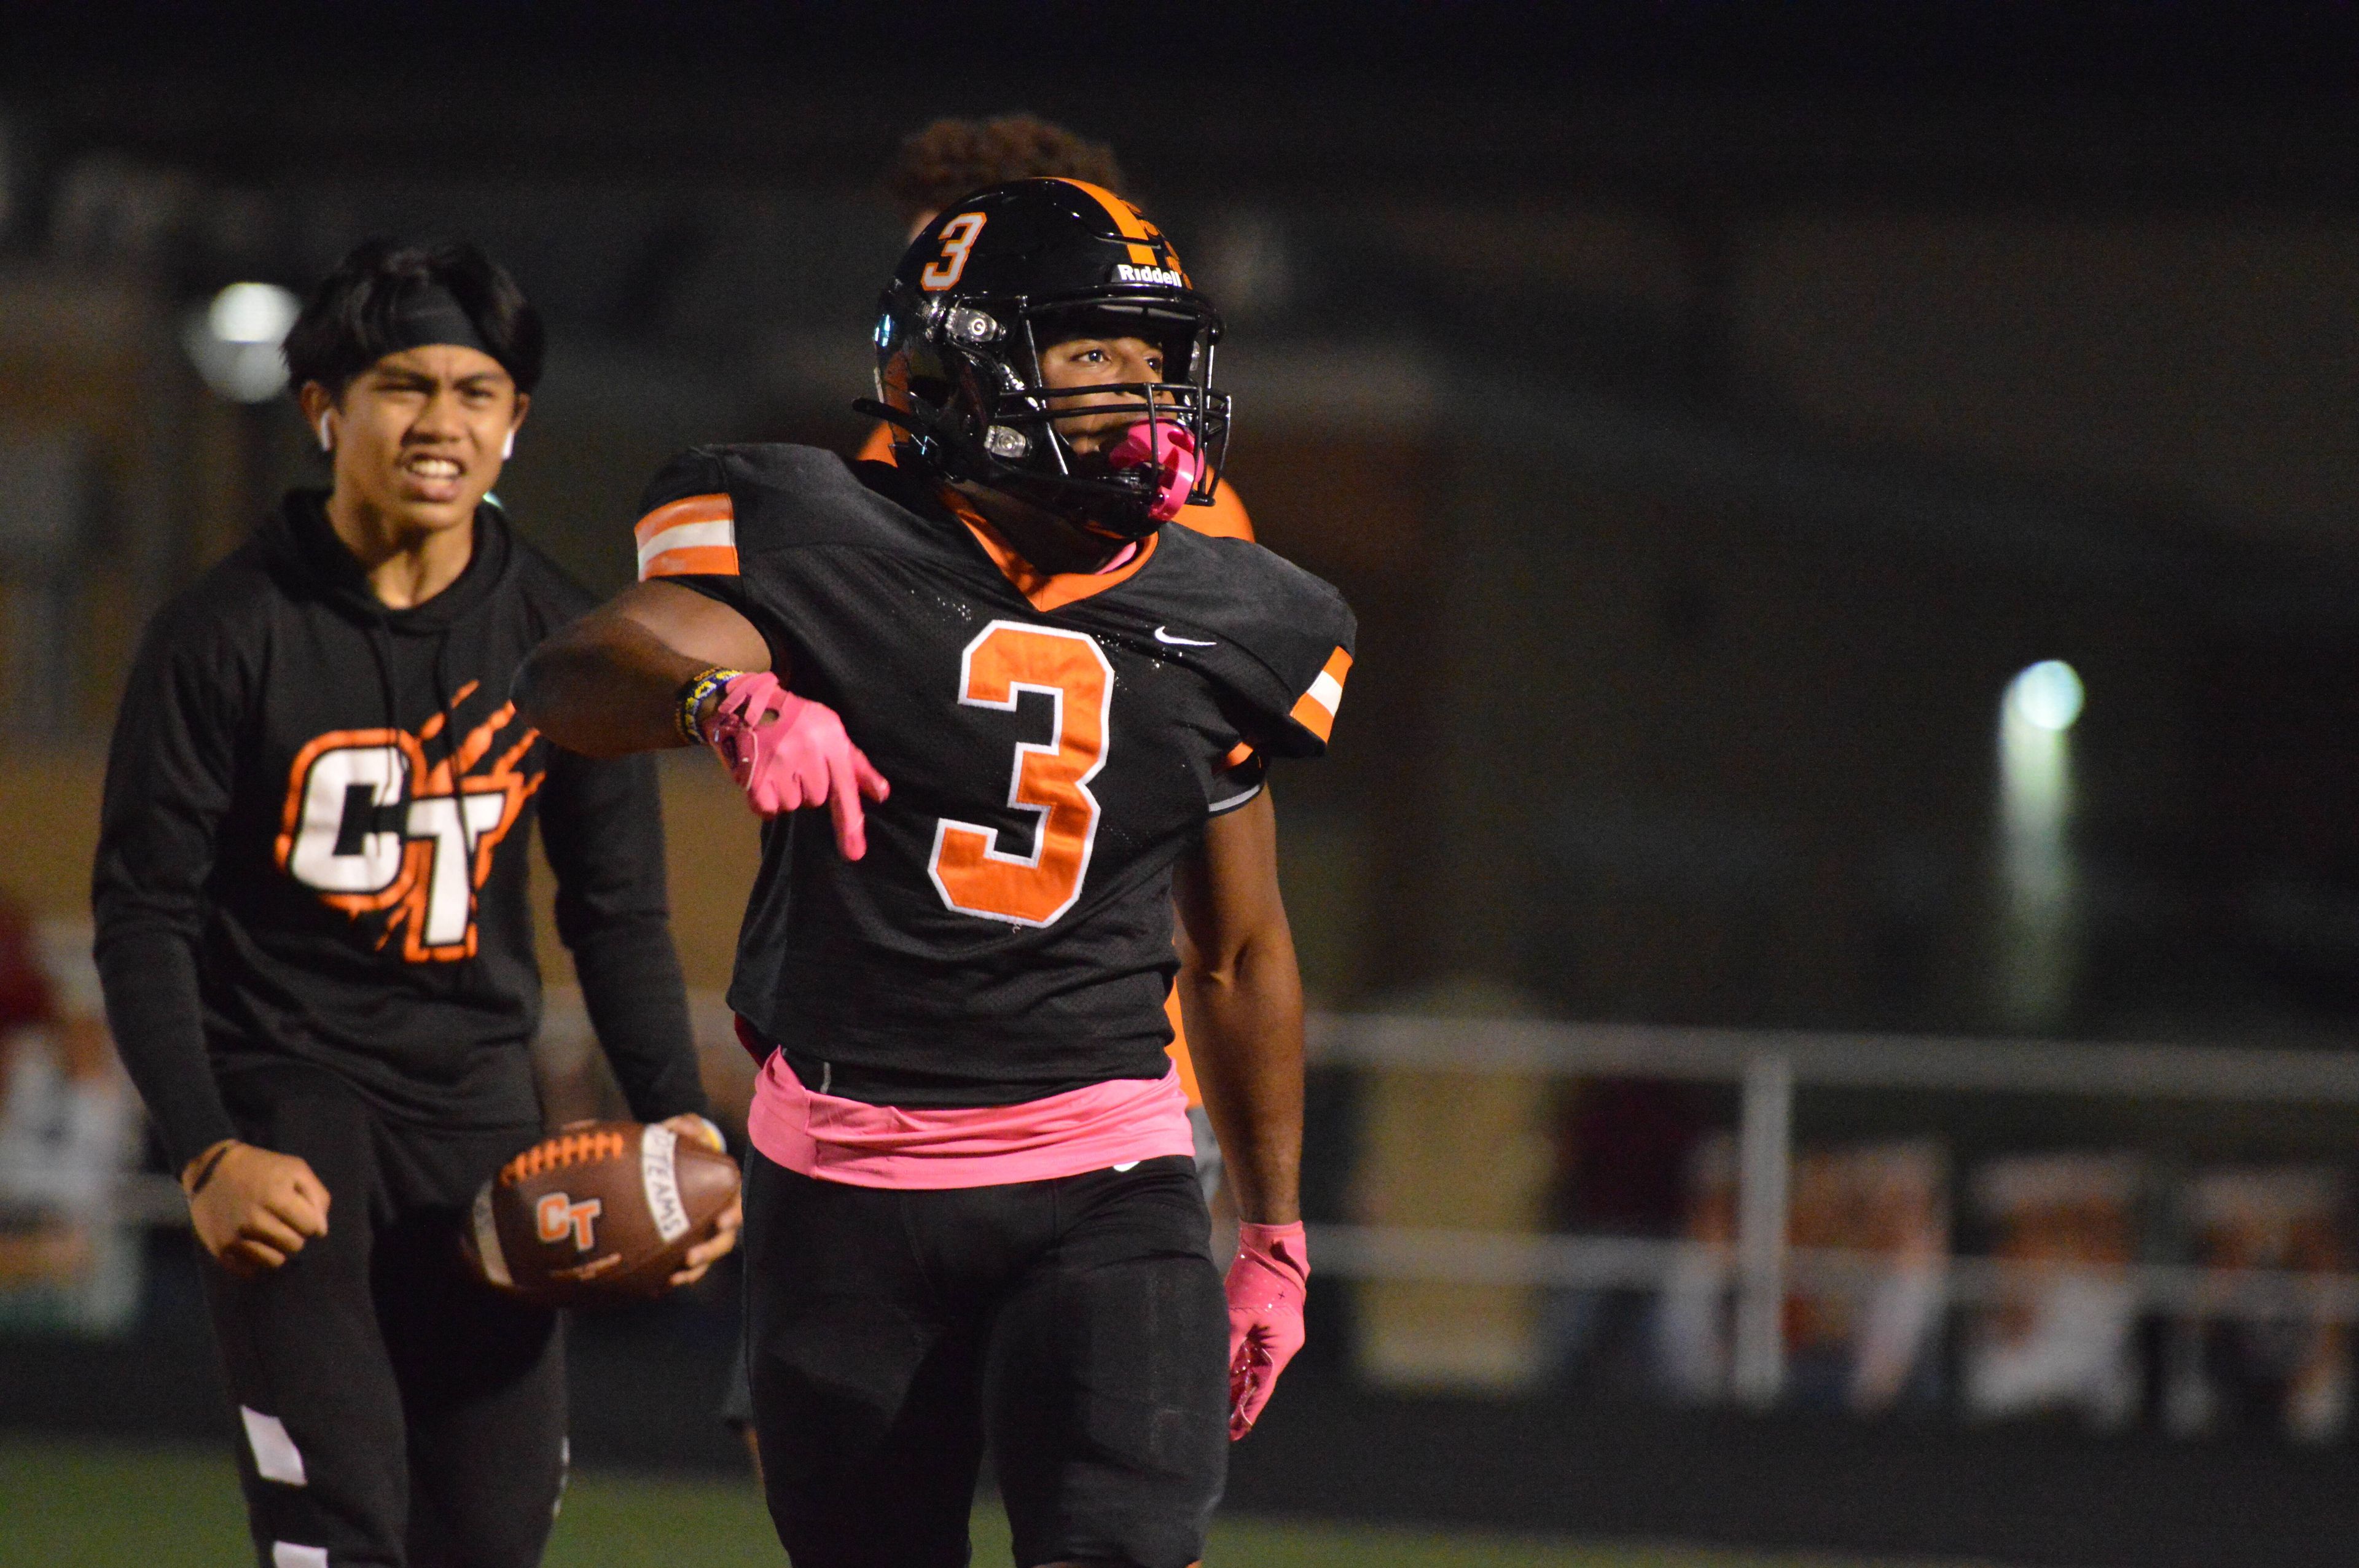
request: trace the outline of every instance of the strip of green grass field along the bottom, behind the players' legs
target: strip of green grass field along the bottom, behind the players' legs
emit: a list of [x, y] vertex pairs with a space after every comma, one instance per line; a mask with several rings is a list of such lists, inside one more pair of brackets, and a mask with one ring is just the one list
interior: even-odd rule
[[[0, 1568], [236, 1568], [252, 1561], [226, 1452], [0, 1438]], [[576, 1474], [547, 1568], [783, 1563], [750, 1483]], [[998, 1509], [974, 1514], [974, 1561], [1010, 1561]], [[1833, 1559], [1444, 1535], [1224, 1518], [1215, 1568], [1866, 1568]]]

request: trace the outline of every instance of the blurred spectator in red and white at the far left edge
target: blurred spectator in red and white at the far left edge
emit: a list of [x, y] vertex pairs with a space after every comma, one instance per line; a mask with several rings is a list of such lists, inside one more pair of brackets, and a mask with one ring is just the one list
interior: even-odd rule
[[137, 1118], [87, 953], [0, 896], [0, 1327], [109, 1332], [137, 1306], [137, 1233], [111, 1217]]

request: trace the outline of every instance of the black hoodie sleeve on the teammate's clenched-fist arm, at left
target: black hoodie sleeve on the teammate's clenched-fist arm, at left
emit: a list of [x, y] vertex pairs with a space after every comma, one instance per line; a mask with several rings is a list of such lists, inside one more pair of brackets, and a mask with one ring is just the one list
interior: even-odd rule
[[212, 842], [229, 811], [236, 660], [156, 618], [106, 757], [92, 870], [106, 1023], [172, 1170], [236, 1137], [205, 1054], [196, 943]]

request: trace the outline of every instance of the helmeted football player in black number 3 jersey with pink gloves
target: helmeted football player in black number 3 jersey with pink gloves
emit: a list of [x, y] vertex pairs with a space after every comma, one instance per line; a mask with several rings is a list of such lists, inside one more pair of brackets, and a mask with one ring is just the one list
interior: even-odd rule
[[[1118, 196], [944, 210], [878, 325], [894, 465], [698, 448], [642, 585], [517, 700], [561, 745], [710, 743], [771, 818], [731, 1007], [762, 1061], [748, 1356], [802, 1568], [1182, 1568], [1302, 1342], [1302, 995], [1262, 778], [1326, 750], [1354, 625], [1168, 526], [1227, 441], [1220, 321]], [[828, 806], [823, 823], [797, 806]], [[1208, 1254], [1163, 1000], [1243, 1238]]]

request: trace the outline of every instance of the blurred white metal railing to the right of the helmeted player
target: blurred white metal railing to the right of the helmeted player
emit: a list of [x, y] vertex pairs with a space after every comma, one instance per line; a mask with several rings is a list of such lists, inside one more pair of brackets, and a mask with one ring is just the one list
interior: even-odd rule
[[[1786, 1382], [1779, 1332], [1790, 1285], [1857, 1287], [1887, 1278], [1873, 1252], [1790, 1250], [1798, 1085], [2066, 1094], [2196, 1103], [2359, 1106], [2359, 1052], [2194, 1045], [2064, 1045], [1800, 1030], [1536, 1023], [1512, 1019], [1319, 1016], [1314, 1063], [1526, 1078], [1677, 1078], [1741, 1089], [1736, 1245], [1618, 1236], [1503, 1236], [1389, 1226], [1319, 1226], [1321, 1266], [1345, 1278], [1661, 1290], [1698, 1271], [1734, 1276], [1739, 1398], [1776, 1403]], [[1991, 1302], [2026, 1276], [2059, 1271], [1989, 1257], [1934, 1264], [1951, 1302]], [[2220, 1271], [2142, 1264], [2102, 1278], [2144, 1306], [2213, 1316], [2359, 1320], [2359, 1276]]]

